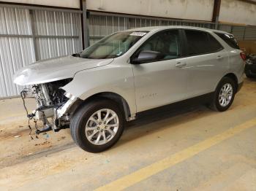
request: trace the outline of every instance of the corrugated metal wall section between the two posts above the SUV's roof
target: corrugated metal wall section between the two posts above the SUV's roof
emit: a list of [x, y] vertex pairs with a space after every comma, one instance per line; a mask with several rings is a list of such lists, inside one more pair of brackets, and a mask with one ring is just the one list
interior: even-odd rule
[[144, 26], [196, 26], [214, 28], [214, 23], [90, 12], [90, 44], [116, 31]]

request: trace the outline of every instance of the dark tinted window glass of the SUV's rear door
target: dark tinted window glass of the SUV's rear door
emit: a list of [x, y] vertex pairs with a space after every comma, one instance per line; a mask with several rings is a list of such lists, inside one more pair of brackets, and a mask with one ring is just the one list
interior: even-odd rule
[[203, 31], [185, 30], [187, 54], [200, 55], [222, 50], [221, 44], [213, 36]]

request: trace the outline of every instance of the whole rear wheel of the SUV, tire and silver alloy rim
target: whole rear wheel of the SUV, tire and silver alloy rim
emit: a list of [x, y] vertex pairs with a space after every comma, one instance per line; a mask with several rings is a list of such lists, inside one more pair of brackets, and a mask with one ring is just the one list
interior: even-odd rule
[[[232, 94], [231, 94], [231, 90], [227, 93], [223, 93], [225, 90], [225, 87], [232, 88]], [[222, 94], [223, 96], [220, 94]], [[210, 108], [217, 112], [225, 112], [233, 103], [235, 94], [236, 94], [236, 82], [234, 82], [234, 80], [229, 77], [223, 77], [214, 92], [214, 98], [211, 102]]]

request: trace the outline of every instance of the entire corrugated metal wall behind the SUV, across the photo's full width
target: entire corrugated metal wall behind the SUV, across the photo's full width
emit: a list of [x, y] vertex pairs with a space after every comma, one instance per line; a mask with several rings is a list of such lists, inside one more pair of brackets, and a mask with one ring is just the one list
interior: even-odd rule
[[[219, 28], [242, 40], [255, 40], [255, 26], [230, 26], [198, 20], [177, 20], [87, 10], [90, 44], [116, 31], [143, 26], [197, 26]], [[56, 9], [0, 4], [0, 98], [17, 96], [22, 87], [12, 76], [35, 61], [69, 55], [83, 47], [79, 9]]]

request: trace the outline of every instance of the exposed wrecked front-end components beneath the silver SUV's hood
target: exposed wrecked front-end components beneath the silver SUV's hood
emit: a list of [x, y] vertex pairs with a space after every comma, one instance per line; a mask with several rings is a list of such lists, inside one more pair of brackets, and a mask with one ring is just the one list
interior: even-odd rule
[[71, 81], [72, 79], [70, 78], [32, 85], [31, 88], [25, 88], [20, 93], [23, 101], [25, 98], [31, 97], [34, 97], [37, 101], [37, 109], [28, 114], [29, 119], [42, 120], [44, 128], [37, 129], [37, 134], [48, 130], [59, 131], [61, 128], [68, 127], [72, 111], [78, 105], [75, 103], [78, 103], [79, 99], [65, 92], [61, 87]]

